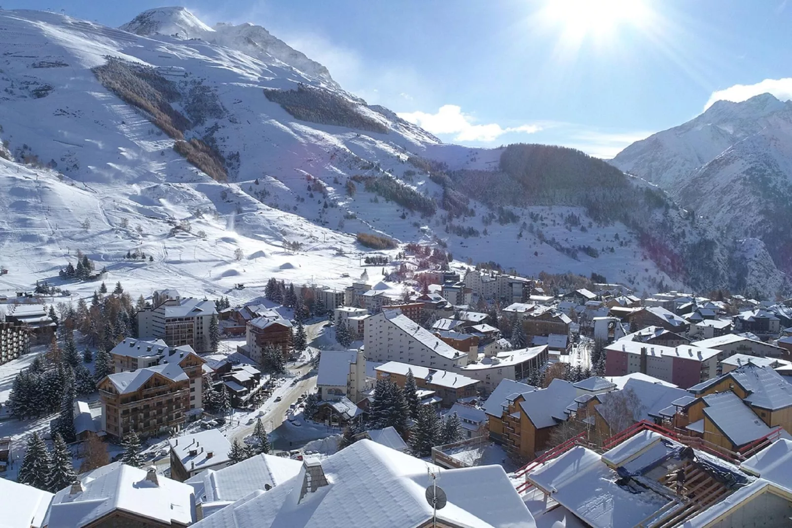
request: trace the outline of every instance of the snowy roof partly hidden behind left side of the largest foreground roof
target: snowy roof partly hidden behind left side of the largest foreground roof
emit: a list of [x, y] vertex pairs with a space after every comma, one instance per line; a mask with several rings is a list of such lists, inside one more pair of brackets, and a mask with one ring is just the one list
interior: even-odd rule
[[302, 467], [302, 462], [291, 458], [259, 454], [226, 468], [205, 469], [186, 484], [195, 488], [197, 502], [237, 501], [256, 490], [266, 491], [267, 486], [283, 484]]

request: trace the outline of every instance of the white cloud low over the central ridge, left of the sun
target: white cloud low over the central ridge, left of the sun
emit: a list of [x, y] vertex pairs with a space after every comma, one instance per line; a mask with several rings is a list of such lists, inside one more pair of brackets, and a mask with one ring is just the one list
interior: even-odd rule
[[481, 141], [489, 143], [508, 132], [532, 134], [542, 128], [536, 124], [522, 124], [519, 127], [501, 127], [500, 124], [475, 124], [475, 118], [463, 113], [457, 105], [443, 105], [437, 113], [401, 112], [405, 121], [417, 124], [432, 134], [454, 134], [455, 141]]

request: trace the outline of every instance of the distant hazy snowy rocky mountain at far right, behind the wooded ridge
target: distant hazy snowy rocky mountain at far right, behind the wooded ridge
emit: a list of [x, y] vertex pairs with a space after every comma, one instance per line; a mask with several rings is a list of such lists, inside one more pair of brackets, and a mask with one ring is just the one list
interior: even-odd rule
[[724, 239], [755, 239], [741, 245], [792, 271], [792, 101], [718, 101], [611, 163], [657, 183]]

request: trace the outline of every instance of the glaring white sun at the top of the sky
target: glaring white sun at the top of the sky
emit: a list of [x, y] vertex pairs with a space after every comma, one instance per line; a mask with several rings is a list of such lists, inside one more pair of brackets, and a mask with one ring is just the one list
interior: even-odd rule
[[614, 38], [624, 26], [645, 25], [651, 14], [643, 0], [548, 0], [541, 13], [570, 44]]

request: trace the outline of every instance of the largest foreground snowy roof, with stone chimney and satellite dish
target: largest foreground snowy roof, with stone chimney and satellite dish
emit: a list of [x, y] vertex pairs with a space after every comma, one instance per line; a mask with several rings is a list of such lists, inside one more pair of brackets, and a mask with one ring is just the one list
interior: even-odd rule
[[[443, 469], [363, 439], [321, 462], [328, 484], [300, 498], [306, 469], [269, 492], [238, 501], [196, 528], [280, 528], [280, 526], [422, 526], [432, 518], [425, 489], [427, 470], [440, 474], [447, 505], [439, 523], [470, 528], [533, 528], [525, 503], [500, 466]], [[487, 493], [482, 494], [482, 489]]]

